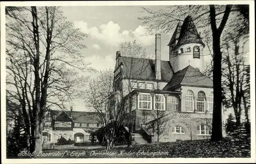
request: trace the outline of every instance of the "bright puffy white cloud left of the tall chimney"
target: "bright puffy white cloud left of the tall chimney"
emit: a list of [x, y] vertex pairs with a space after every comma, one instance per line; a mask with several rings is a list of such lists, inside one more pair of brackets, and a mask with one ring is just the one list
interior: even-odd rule
[[74, 26], [75, 28], [80, 28], [82, 32], [87, 33], [93, 39], [99, 40], [110, 46], [118, 46], [120, 43], [132, 41], [134, 39], [143, 46], [148, 46], [154, 43], [154, 36], [143, 36], [146, 30], [142, 25], [139, 25], [135, 31], [120, 31], [121, 28], [119, 24], [114, 23], [113, 21], [101, 24], [98, 28], [96, 26], [89, 27], [88, 23], [84, 21], [75, 21]]

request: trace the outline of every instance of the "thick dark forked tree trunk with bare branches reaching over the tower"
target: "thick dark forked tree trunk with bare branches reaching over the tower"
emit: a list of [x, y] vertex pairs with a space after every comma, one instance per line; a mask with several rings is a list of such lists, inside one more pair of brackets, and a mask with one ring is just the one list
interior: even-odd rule
[[[143, 25], [147, 25], [150, 34], [163, 31], [168, 33], [169, 30], [174, 29], [178, 21], [183, 21], [184, 17], [191, 15], [198, 28], [210, 30], [212, 37], [212, 51], [213, 51], [213, 81], [214, 81], [214, 112], [212, 118], [212, 141], [219, 141], [222, 139], [222, 118], [221, 118], [221, 104], [222, 104], [222, 87], [221, 87], [221, 62], [222, 53], [220, 47], [220, 39], [222, 32], [225, 28], [229, 14], [231, 11], [239, 12], [241, 8], [239, 5], [209, 5], [209, 6], [168, 6], [166, 10], [150, 10], [142, 8], [150, 16], [143, 16], [139, 19], [142, 20]], [[242, 12], [248, 15], [247, 12]], [[246, 14], [247, 13], [247, 14]], [[210, 28], [209, 28], [210, 25]], [[219, 27], [217, 28], [217, 25]], [[228, 29], [229, 31], [232, 31]], [[207, 34], [208, 35], [208, 34]], [[203, 38], [203, 37], [202, 37]], [[209, 37], [206, 37], [209, 38]]]

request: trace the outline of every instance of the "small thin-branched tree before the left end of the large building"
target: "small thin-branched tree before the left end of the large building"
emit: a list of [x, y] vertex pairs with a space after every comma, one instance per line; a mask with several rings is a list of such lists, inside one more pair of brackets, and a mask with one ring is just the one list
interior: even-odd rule
[[103, 134], [103, 143], [109, 151], [115, 146], [118, 133], [123, 126], [125, 117], [123, 101], [120, 94], [113, 91], [113, 70], [106, 69], [99, 72], [99, 76], [89, 81], [86, 101], [97, 114]]

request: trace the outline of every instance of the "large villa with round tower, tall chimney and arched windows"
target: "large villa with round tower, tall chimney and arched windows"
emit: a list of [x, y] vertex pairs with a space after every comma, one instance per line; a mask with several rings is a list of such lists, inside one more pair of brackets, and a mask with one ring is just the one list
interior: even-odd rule
[[156, 34], [155, 59], [116, 53], [114, 89], [133, 100], [133, 133], [152, 142], [206, 139], [211, 135], [212, 79], [205, 76], [202, 42], [190, 16], [170, 39], [169, 61], [161, 60]]

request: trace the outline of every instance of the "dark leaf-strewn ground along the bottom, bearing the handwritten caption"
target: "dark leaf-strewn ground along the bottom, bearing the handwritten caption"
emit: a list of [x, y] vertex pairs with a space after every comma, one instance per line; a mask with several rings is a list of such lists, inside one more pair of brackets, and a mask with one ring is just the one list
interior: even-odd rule
[[79, 150], [48, 150], [37, 158], [200, 158], [200, 157], [250, 157], [250, 139], [225, 138], [223, 141], [209, 140], [179, 141], [150, 145], [133, 145], [131, 148]]

